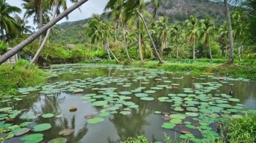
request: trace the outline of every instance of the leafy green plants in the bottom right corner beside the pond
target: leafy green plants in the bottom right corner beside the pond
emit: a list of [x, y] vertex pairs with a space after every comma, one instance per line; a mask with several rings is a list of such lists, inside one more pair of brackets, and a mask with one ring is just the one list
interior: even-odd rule
[[222, 128], [228, 142], [256, 142], [256, 114], [246, 114], [234, 119]]

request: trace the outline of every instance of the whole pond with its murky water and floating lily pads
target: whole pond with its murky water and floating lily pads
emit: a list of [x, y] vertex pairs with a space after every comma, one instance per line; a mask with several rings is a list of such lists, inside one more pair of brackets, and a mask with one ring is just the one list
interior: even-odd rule
[[47, 84], [1, 99], [0, 129], [18, 134], [6, 142], [103, 143], [137, 135], [164, 142], [164, 133], [207, 142], [218, 137], [222, 121], [256, 109], [256, 82], [243, 78], [108, 64], [63, 64], [47, 72]]

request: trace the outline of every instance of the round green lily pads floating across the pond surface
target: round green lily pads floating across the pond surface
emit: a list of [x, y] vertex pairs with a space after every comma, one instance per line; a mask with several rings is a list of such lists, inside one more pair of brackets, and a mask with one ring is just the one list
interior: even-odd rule
[[[176, 75], [173, 72], [163, 72], [159, 70], [143, 70], [141, 68], [129, 68], [124, 66], [111, 66], [109, 69], [116, 69], [122, 73], [109, 73], [108, 76], [97, 75], [97, 77], [87, 76], [99, 68], [106, 68], [104, 64], [65, 64], [56, 65], [54, 68], [47, 70], [51, 73], [52, 80], [50, 83], [35, 86], [24, 87], [19, 89], [19, 96], [6, 96], [1, 102], [19, 102], [27, 94], [38, 92], [47, 98], [58, 97], [62, 92], [79, 96], [83, 103], [89, 103], [95, 109], [100, 110], [97, 114], [89, 114], [84, 119], [89, 124], [102, 123], [110, 118], [112, 114], [121, 114], [120, 116], [132, 116], [132, 111], [139, 108], [140, 102], [157, 103], [167, 105], [168, 114], [157, 109], [153, 111], [156, 116], [163, 118], [163, 130], [177, 130], [182, 133], [180, 139], [189, 139], [191, 142], [207, 142], [214, 137], [218, 137], [216, 132], [216, 123], [228, 121], [231, 118], [241, 118], [239, 113], [244, 107], [239, 104], [239, 99], [228, 94], [220, 93], [220, 87], [224, 84], [234, 85], [230, 81], [250, 80], [232, 77], [214, 77], [207, 75], [213, 82], [197, 83], [205, 80], [206, 76], [193, 77], [195, 80], [190, 87], [180, 87], [180, 81], [185, 79], [186, 75]], [[84, 75], [84, 78], [70, 78], [60, 80], [58, 77], [66, 73]], [[187, 74], [189, 75], [189, 73]], [[191, 79], [192, 80], [192, 79]], [[152, 84], [153, 82], [153, 84]], [[133, 84], [140, 86], [135, 87]], [[119, 87], [122, 87], [120, 90]], [[88, 90], [91, 91], [87, 93]], [[125, 90], [124, 90], [125, 89]], [[159, 94], [158, 92], [164, 93]], [[137, 102], [134, 102], [137, 101]], [[80, 110], [80, 109], [79, 109]], [[19, 135], [26, 132], [43, 132], [51, 128], [49, 123], [33, 124], [25, 122], [20, 125], [6, 123], [6, 119], [14, 119], [21, 111], [13, 110], [12, 107], [0, 109], [0, 128], [6, 128], [9, 135]], [[170, 114], [170, 112], [172, 114]], [[161, 115], [163, 114], [163, 115]], [[22, 114], [20, 119], [36, 119], [37, 117], [49, 118], [54, 114], [45, 113], [36, 116]], [[55, 117], [61, 117], [56, 115]], [[32, 128], [30, 131], [29, 127]], [[196, 139], [193, 132], [200, 132], [203, 139]], [[70, 135], [74, 129], [61, 130], [60, 135]], [[41, 142], [44, 135], [34, 133], [22, 137], [24, 142]], [[59, 141], [61, 140], [61, 141]], [[50, 142], [67, 142], [65, 138], [52, 139]]]

